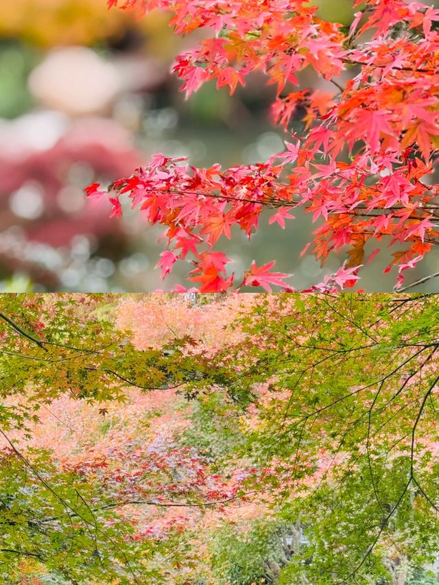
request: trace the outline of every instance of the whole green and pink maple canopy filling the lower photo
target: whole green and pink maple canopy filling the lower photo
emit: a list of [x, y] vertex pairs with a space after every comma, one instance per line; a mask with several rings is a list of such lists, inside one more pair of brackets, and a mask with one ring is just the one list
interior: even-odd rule
[[0, 302], [4, 582], [437, 582], [436, 295]]

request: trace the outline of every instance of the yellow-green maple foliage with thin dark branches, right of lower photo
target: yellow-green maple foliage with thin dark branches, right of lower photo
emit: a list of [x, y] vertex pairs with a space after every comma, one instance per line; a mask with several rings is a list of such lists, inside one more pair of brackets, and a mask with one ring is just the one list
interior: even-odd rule
[[241, 372], [240, 451], [263, 471], [244, 489], [305, 535], [274, 582], [407, 583], [437, 558], [437, 302], [258, 296], [217, 355]]

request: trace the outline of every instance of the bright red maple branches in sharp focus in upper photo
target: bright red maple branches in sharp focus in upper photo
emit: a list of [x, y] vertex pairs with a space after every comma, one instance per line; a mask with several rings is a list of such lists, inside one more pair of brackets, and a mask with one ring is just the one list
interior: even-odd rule
[[[250, 238], [267, 209], [270, 223], [285, 228], [297, 207], [319, 222], [310, 243], [316, 258], [346, 256], [335, 275], [311, 290], [354, 285], [383, 243], [395, 249], [386, 271], [394, 269], [402, 287], [405, 270], [438, 243], [438, 185], [431, 183], [439, 146], [439, 10], [410, 0], [356, 0], [346, 27], [323, 21], [304, 0], [108, 5], [169, 11], [176, 34], [206, 29], [195, 49], [176, 58], [181, 89], [189, 97], [214, 80], [233, 93], [262, 71], [276, 86], [272, 118], [286, 132], [285, 152], [265, 163], [198, 169], [156, 154], [108, 189], [96, 183], [86, 189], [88, 197], [109, 194], [117, 217], [128, 195], [148, 222], [166, 227], [163, 276], [190, 259], [189, 280], [200, 291], [290, 289], [288, 274], [272, 272], [274, 262], [252, 263], [239, 280], [226, 254], [213, 248], [234, 226]], [[305, 69], [332, 82], [334, 91], [303, 88]]]

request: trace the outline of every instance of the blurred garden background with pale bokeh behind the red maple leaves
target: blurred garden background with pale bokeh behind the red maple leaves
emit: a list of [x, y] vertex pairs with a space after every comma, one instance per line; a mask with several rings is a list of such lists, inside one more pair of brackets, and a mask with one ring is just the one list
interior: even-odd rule
[[[351, 22], [351, 0], [316, 3], [323, 18]], [[131, 174], [154, 152], [226, 167], [283, 149], [286, 136], [268, 115], [274, 88], [263, 77], [254, 75], [233, 97], [207, 84], [185, 101], [169, 71], [194, 42], [175, 36], [165, 14], [137, 19], [108, 11], [106, 0], [0, 3], [1, 291], [154, 291], [185, 283], [187, 263], [164, 283], [154, 270], [163, 228], [129, 210], [109, 219], [108, 202], [86, 201], [83, 189]], [[302, 81], [333, 90], [306, 71]], [[281, 230], [268, 226], [269, 215], [250, 243], [241, 232], [221, 243], [233, 270], [276, 259], [276, 270], [294, 272], [297, 288], [337, 270], [335, 257], [323, 268], [312, 256], [300, 258], [313, 230], [309, 217], [296, 213]], [[392, 289], [394, 275], [382, 274], [386, 259], [368, 268], [361, 288]], [[436, 270], [427, 258], [410, 281]]]

